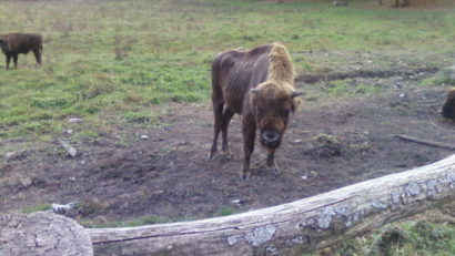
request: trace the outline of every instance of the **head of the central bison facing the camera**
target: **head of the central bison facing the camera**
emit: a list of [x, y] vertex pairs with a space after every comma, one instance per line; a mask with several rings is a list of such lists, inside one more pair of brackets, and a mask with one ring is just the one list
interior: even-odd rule
[[291, 84], [275, 81], [266, 81], [251, 90], [251, 111], [264, 147], [275, 150], [280, 146], [290, 115], [301, 103], [297, 99], [301, 94]]

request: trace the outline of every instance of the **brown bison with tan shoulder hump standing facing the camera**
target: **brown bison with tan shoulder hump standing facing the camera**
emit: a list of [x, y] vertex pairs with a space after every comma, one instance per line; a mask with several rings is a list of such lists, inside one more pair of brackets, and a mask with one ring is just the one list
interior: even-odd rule
[[290, 114], [301, 100], [294, 89], [294, 66], [286, 48], [265, 44], [250, 51], [231, 50], [219, 53], [212, 63], [212, 103], [214, 136], [209, 158], [218, 151], [222, 132], [222, 151], [228, 158], [228, 126], [232, 116], [242, 115], [244, 162], [241, 178], [250, 177], [250, 158], [254, 151], [256, 130], [267, 150], [267, 166], [280, 173], [275, 150], [280, 147]]

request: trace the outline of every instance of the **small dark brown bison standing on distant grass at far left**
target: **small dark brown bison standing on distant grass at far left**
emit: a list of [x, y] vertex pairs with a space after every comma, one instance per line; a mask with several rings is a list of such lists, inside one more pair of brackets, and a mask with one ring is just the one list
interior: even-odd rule
[[7, 58], [7, 70], [10, 66], [11, 57], [14, 68], [18, 68], [19, 53], [32, 51], [37, 62], [41, 64], [42, 37], [38, 33], [9, 33], [0, 35], [0, 48]]

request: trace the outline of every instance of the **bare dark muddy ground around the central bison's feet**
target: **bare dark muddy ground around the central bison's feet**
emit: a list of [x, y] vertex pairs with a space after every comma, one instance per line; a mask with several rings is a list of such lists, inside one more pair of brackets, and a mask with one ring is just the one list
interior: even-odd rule
[[[311, 60], [318, 53], [302, 54]], [[411, 58], [412, 53], [326, 55], [327, 62], [335, 58], [345, 64], [330, 75], [299, 79], [305, 102], [277, 151], [280, 175], [266, 170], [265, 155], [256, 146], [251, 180], [237, 178], [243, 155], [239, 116], [230, 126], [233, 158], [208, 162], [213, 123], [210, 102], [166, 104], [153, 107], [161, 117], [152, 127], [119, 122], [97, 140], [72, 141], [79, 152], [75, 157], [68, 156], [57, 139], [50, 143], [0, 141], [0, 147], [13, 149], [13, 154], [2, 155], [0, 165], [0, 212], [78, 202], [71, 217], [95, 223], [143, 215], [196, 219], [226, 208], [245, 212], [292, 202], [454, 153], [395, 136], [455, 143], [455, 124], [438, 112], [447, 86], [421, 85], [435, 75], [438, 65], [453, 63], [453, 54], [435, 58], [437, 65], [428, 63], [431, 58]], [[377, 65], [385, 63], [380, 61], [384, 58], [396, 65]], [[340, 75], [347, 75], [345, 82], [354, 90], [327, 96], [334, 86], [331, 80]], [[365, 90], [358, 84], [378, 90], [368, 94], [358, 91]], [[68, 124], [68, 129], [77, 133], [78, 124]], [[149, 139], [141, 140], [141, 135]], [[71, 141], [72, 136], [59, 139]]]

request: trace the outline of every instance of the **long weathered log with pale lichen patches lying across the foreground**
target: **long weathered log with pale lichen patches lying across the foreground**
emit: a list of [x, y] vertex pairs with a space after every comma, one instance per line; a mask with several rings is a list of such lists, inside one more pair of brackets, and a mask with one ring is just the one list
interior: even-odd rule
[[455, 198], [455, 155], [269, 208], [210, 219], [85, 229], [98, 255], [297, 255]]

